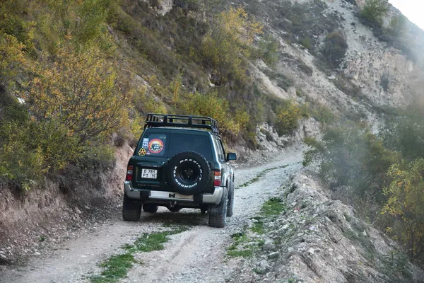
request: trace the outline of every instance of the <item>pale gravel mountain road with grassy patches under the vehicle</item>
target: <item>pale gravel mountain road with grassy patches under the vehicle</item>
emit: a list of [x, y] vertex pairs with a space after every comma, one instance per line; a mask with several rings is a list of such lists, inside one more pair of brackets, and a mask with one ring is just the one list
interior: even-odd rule
[[[111, 255], [122, 253], [122, 245], [134, 243], [141, 233], [163, 230], [164, 224], [189, 226], [187, 231], [170, 236], [164, 250], [137, 253], [127, 277], [120, 282], [225, 282], [231, 279], [232, 268], [225, 263], [231, 235], [240, 231], [269, 197], [275, 195], [292, 173], [298, 171], [302, 152], [290, 152], [278, 161], [235, 171], [236, 187], [252, 180], [268, 168], [259, 180], [235, 190], [234, 215], [224, 229], [208, 226], [208, 216], [197, 209], [178, 213], [161, 207], [155, 214], [142, 212], [139, 222], [124, 222], [120, 214], [105, 221], [94, 232], [65, 243], [56, 250], [45, 250], [24, 267], [1, 271], [1, 283], [65, 283], [90, 282], [98, 275], [98, 263]], [[288, 165], [287, 167], [281, 167]], [[237, 282], [237, 279], [232, 279]]]

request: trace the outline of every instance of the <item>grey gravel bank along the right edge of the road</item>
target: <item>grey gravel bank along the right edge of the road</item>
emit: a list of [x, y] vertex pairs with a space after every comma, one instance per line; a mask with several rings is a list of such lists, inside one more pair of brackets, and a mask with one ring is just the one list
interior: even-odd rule
[[424, 282], [394, 241], [331, 200], [317, 180], [305, 169], [292, 175], [278, 195], [284, 212], [251, 219], [241, 231], [264, 246], [253, 258], [230, 260], [239, 266], [234, 282]]

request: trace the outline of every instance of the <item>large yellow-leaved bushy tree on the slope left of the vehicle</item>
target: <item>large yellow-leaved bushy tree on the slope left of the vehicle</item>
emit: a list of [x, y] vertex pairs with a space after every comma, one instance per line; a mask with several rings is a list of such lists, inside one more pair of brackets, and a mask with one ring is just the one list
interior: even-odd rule
[[32, 67], [35, 77], [18, 95], [40, 122], [54, 122], [78, 144], [103, 141], [126, 124], [131, 93], [121, 92], [114, 66], [93, 47], [82, 54], [62, 47], [54, 62]]

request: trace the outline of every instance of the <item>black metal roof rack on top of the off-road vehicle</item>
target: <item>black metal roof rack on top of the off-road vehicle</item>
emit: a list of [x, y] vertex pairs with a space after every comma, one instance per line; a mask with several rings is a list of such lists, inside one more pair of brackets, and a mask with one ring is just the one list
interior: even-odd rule
[[148, 114], [144, 129], [152, 127], [188, 127], [210, 129], [213, 134], [218, 134], [218, 122], [211, 117], [188, 115]]

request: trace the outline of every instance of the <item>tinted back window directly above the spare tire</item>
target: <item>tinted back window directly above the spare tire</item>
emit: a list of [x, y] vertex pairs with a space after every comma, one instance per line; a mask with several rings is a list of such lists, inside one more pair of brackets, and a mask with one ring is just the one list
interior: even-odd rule
[[211, 139], [208, 135], [172, 133], [167, 156], [172, 158], [181, 151], [196, 151], [212, 161]]

